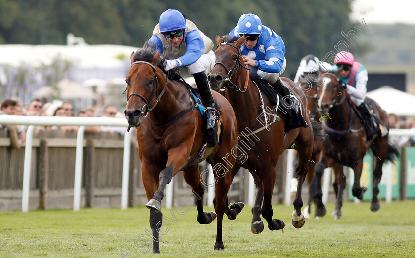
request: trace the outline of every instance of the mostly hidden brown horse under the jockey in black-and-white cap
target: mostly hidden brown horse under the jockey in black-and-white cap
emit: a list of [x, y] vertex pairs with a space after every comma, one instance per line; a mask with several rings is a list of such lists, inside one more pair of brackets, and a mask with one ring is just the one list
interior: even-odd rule
[[[319, 83], [321, 82], [321, 75], [324, 74], [325, 71], [319, 67], [318, 71], [305, 73], [302, 78], [300, 78], [298, 85], [303, 89], [305, 96], [307, 97], [307, 110], [310, 113], [310, 118], [312, 121], [320, 122], [320, 112], [318, 110], [318, 95], [317, 95], [317, 88]], [[326, 132], [320, 130], [320, 135], [326, 135]], [[326, 215], [326, 207], [323, 205], [322, 196], [321, 194], [316, 195], [316, 184], [321, 184], [321, 182], [317, 182], [320, 177], [315, 176], [315, 166], [317, 162], [320, 160], [321, 152], [323, 150], [323, 141], [326, 140], [326, 137], [315, 137], [313, 143], [313, 155], [311, 156], [311, 160], [307, 165], [308, 172], [307, 172], [307, 181], [309, 184], [309, 198], [307, 206], [304, 209], [304, 216], [306, 219], [310, 219], [311, 214], [311, 204], [314, 202], [316, 205], [315, 211], [315, 218], [323, 217]], [[338, 192], [337, 186], [341, 180], [345, 180], [343, 174], [343, 165], [335, 164], [332, 167], [333, 174], [334, 174], [334, 192]], [[345, 182], [344, 182], [345, 184]]]

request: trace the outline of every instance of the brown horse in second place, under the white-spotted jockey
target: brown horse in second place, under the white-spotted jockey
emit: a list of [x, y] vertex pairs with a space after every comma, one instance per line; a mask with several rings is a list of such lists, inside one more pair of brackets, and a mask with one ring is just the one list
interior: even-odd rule
[[[252, 208], [251, 231], [255, 234], [263, 231], [264, 223], [260, 218], [261, 214], [268, 222], [270, 230], [282, 229], [285, 226], [283, 221], [272, 218], [271, 198], [278, 157], [293, 142], [299, 153], [299, 164], [295, 173], [298, 190], [294, 199], [295, 210], [292, 213], [292, 224], [296, 228], [301, 228], [305, 222], [301, 211], [303, 206], [301, 187], [307, 174], [307, 164], [313, 147], [314, 134], [311, 121], [308, 112], [304, 109], [302, 110], [303, 116], [310, 127], [299, 127], [285, 134], [286, 121], [282, 111], [280, 108], [276, 109], [264, 92], [250, 80], [247, 68], [241, 63], [239, 48], [244, 38], [240, 37], [236, 40], [230, 35], [222, 38], [219, 35], [216, 36], [216, 64], [208, 80], [210, 87], [214, 90], [226, 88], [225, 96], [235, 110], [238, 121], [238, 149], [245, 152], [247, 158], [238, 159], [234, 170], [237, 171], [240, 167], [248, 169], [258, 190]], [[306, 107], [307, 101], [304, 94], [301, 94], [301, 89], [287, 78], [282, 78], [282, 80], [289, 85]]]

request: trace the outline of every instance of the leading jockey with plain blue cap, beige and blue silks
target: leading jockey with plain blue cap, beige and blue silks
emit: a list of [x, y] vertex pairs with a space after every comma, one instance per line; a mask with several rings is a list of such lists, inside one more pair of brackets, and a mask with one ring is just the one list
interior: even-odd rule
[[214, 100], [207, 82], [207, 74], [215, 64], [213, 42], [178, 10], [168, 9], [160, 15], [149, 43], [165, 58], [165, 70], [185, 66], [195, 78], [196, 86], [207, 107], [207, 129], [216, 125]]

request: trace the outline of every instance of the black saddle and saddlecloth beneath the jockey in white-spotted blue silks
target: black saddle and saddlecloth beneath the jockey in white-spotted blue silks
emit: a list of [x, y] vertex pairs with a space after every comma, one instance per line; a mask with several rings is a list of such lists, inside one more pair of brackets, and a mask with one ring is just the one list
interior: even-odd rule
[[[261, 78], [251, 77], [251, 80], [268, 97], [268, 99], [273, 105], [278, 105], [278, 103], [281, 102], [279, 101], [279, 99], [281, 100], [284, 96], [281, 96], [281, 94], [279, 94], [277, 90], [275, 90], [274, 87], [271, 86], [271, 84], [269, 84], [268, 82], [264, 81]], [[307, 125], [307, 123], [305, 122], [303, 118], [302, 111], [304, 110], [304, 106], [302, 102], [300, 104], [300, 108], [298, 109], [298, 112], [295, 112], [293, 109], [288, 109], [284, 107], [284, 105], [279, 105], [278, 109], [282, 111], [282, 113], [284, 114], [284, 118], [285, 118], [284, 132], [288, 132], [298, 127], [309, 127], [309, 125]]]

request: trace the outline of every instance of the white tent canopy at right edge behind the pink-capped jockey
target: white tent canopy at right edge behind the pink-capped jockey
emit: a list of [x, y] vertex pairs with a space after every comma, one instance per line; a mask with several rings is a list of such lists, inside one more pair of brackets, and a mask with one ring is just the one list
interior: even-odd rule
[[398, 116], [415, 116], [415, 95], [383, 86], [366, 93], [375, 100], [388, 114]]

